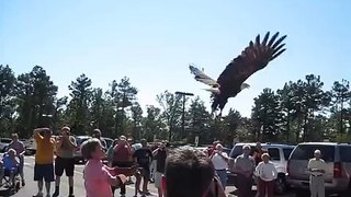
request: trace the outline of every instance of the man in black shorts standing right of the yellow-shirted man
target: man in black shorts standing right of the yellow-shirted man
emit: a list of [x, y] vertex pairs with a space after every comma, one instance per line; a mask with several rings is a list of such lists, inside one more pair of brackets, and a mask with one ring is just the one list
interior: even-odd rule
[[75, 159], [73, 152], [77, 149], [76, 139], [70, 135], [69, 127], [63, 127], [60, 137], [56, 142], [56, 159], [55, 159], [55, 193], [53, 197], [59, 196], [60, 177], [66, 171], [69, 185], [69, 197], [73, 197], [73, 174], [75, 174]]

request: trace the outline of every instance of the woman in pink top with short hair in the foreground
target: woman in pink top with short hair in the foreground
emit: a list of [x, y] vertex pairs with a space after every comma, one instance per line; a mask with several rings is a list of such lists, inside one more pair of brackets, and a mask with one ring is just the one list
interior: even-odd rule
[[81, 153], [88, 160], [83, 172], [87, 197], [112, 197], [111, 186], [124, 184], [125, 175], [102, 163], [105, 152], [98, 139], [87, 140], [82, 144]]

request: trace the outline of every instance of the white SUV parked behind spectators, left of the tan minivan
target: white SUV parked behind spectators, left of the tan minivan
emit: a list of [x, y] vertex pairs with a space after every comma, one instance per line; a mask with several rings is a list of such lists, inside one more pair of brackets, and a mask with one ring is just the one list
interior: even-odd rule
[[[236, 159], [238, 155], [242, 154], [242, 147], [248, 144], [251, 147], [250, 155], [253, 155], [256, 150], [256, 143], [237, 143], [230, 151], [229, 157]], [[265, 150], [271, 158], [271, 162], [274, 164], [278, 171], [278, 178], [275, 179], [274, 190], [276, 194], [284, 194], [287, 189], [286, 184], [286, 164], [291, 152], [294, 150], [295, 146], [280, 144], [280, 143], [262, 143], [262, 149]], [[236, 173], [228, 171], [229, 182], [236, 184]]]

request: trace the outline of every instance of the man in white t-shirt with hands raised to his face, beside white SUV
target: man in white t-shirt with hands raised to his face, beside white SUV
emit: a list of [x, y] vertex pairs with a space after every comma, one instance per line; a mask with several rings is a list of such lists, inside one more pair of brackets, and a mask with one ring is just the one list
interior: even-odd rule
[[227, 169], [228, 169], [228, 154], [223, 152], [223, 146], [217, 143], [215, 150], [211, 154], [211, 160], [215, 166], [216, 173], [220, 178], [223, 189], [227, 186]]

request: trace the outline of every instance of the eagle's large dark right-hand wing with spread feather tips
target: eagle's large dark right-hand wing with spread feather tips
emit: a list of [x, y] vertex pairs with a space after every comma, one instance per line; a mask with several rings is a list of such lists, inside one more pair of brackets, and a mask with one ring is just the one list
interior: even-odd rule
[[[249, 46], [242, 50], [241, 55], [235, 58], [226, 69], [220, 73], [217, 83], [225, 89], [220, 92], [239, 90], [239, 86], [251, 74], [258, 70], [263, 69], [271, 60], [275, 59], [285, 51], [282, 42], [286, 35], [280, 37], [279, 32], [269, 39], [270, 32], [268, 32], [262, 42], [260, 35], [256, 37], [256, 42], [250, 42]], [[228, 89], [228, 90], [226, 90]]]

